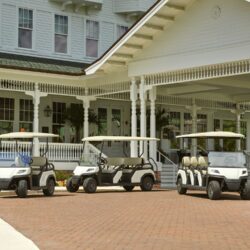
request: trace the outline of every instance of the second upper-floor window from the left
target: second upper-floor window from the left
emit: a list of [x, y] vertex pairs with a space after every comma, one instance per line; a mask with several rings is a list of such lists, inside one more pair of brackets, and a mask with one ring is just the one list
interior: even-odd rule
[[55, 52], [67, 53], [68, 17], [55, 15]]

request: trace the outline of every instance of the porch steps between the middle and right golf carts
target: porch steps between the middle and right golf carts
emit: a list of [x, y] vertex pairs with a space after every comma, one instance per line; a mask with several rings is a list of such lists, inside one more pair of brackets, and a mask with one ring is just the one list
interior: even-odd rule
[[175, 164], [162, 164], [161, 188], [176, 189], [177, 166]]

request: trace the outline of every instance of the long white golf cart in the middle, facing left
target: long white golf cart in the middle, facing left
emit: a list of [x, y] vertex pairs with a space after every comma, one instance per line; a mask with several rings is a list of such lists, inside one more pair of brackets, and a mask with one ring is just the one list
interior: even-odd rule
[[[157, 183], [152, 164], [153, 159], [145, 162], [139, 157], [104, 157], [103, 145], [105, 142], [131, 142], [156, 141], [156, 138], [125, 137], [125, 136], [93, 136], [82, 139], [84, 152], [89, 143], [101, 142], [99, 155], [83, 153], [79, 166], [74, 174], [67, 180], [67, 190], [76, 192], [83, 185], [86, 193], [94, 193], [97, 186], [122, 186], [126, 191], [132, 191], [140, 186], [142, 191], [151, 191], [153, 184]], [[157, 165], [156, 165], [157, 168]]]

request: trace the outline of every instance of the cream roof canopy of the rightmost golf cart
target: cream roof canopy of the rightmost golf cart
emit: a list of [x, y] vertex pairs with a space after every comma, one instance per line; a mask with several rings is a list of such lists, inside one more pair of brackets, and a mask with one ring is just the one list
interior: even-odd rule
[[233, 132], [225, 132], [225, 131], [210, 131], [204, 133], [194, 133], [194, 134], [186, 134], [186, 135], [178, 135], [176, 138], [234, 138], [234, 139], [243, 139], [244, 135], [233, 133]]

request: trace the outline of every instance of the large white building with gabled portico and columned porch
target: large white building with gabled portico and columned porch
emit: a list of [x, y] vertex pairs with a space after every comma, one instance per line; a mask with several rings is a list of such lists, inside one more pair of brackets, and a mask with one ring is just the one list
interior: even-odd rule
[[[3, 10], [9, 2], [15, 1], [8, 1], [5, 5], [2, 3], [0, 8]], [[54, 160], [72, 161], [79, 156], [80, 145], [70, 143], [74, 133], [71, 124], [64, 119], [64, 112], [67, 106], [78, 103], [84, 107], [84, 137], [98, 133], [155, 137], [160, 132], [162, 150], [159, 154], [165, 151], [174, 161], [180, 147], [174, 135], [220, 129], [244, 133], [247, 140], [242, 147], [250, 150], [248, 1], [134, 0], [126, 1], [127, 6], [125, 1], [105, 1], [110, 2], [109, 7], [99, 0], [40, 2], [59, 9], [48, 14], [45, 20], [40, 17], [41, 22], [38, 21], [38, 13], [31, 15], [37, 20], [29, 26], [30, 18], [21, 18], [20, 21], [22, 11], [15, 7], [16, 19], [12, 20], [12, 24], [17, 25], [19, 22], [19, 26], [12, 31], [15, 33], [12, 39], [2, 36], [7, 30], [2, 22], [1, 50], [11, 47], [14, 39], [17, 48], [12, 49], [15, 55], [23, 54], [24, 49], [19, 48], [20, 44], [39, 44], [49, 54], [37, 59], [35, 47], [25, 49], [29, 50], [27, 53], [32, 58], [27, 58], [27, 54], [16, 57], [3, 53], [0, 66], [1, 132], [9, 128], [13, 131], [32, 128], [34, 131], [59, 132], [63, 143], [52, 144], [54, 153], [51, 152], [51, 157]], [[76, 4], [78, 2], [82, 5]], [[88, 6], [85, 2], [95, 4]], [[132, 2], [137, 3], [133, 5], [133, 11], [129, 8]], [[108, 48], [110, 42], [107, 47], [104, 46], [108, 49], [105, 52], [104, 49], [103, 54], [99, 50], [97, 53], [100, 41], [96, 39], [96, 32], [106, 24], [99, 26], [96, 21], [88, 21], [87, 17], [81, 15], [92, 13], [94, 18], [94, 13], [112, 8], [112, 12], [118, 13], [112, 15], [119, 16], [120, 23], [125, 27], [126, 22], [131, 23], [134, 16], [145, 11], [145, 8], [141, 8], [145, 6], [140, 5], [142, 2], [151, 2], [153, 5], [113, 45]], [[46, 11], [43, 9], [41, 12]], [[65, 18], [66, 13], [71, 13], [71, 17]], [[2, 20], [7, 18], [6, 11], [1, 11], [1, 15]], [[33, 30], [33, 27], [39, 24], [42, 29], [44, 22], [51, 24], [49, 18], [54, 20], [54, 28], [50, 26], [49, 33], [42, 33], [43, 42], [36, 37], [38, 27], [37, 30]], [[65, 28], [73, 20], [76, 22], [76, 19], [78, 25]], [[82, 24], [81, 20], [85, 20], [85, 26], [82, 26], [86, 30], [84, 34], [75, 31]], [[32, 39], [29, 30], [32, 30]], [[77, 38], [72, 39], [74, 32]], [[105, 34], [100, 34], [100, 37], [110, 39], [114, 29], [106, 29]], [[30, 40], [27, 42], [23, 37]], [[79, 44], [81, 39], [84, 46]], [[88, 61], [86, 46], [91, 48], [88, 52], [91, 60], [93, 56], [100, 56], [91, 65], [86, 65], [91, 61]], [[13, 54], [12, 49], [9, 52]], [[73, 52], [76, 54], [73, 55]], [[79, 70], [81, 63], [83, 71]], [[98, 116], [99, 128], [89, 125], [90, 110]], [[149, 123], [147, 110], [150, 114]], [[159, 110], [165, 110], [168, 122], [161, 126], [160, 131], [156, 131], [156, 125], [160, 123], [157, 120]], [[207, 146], [231, 147], [230, 143], [222, 145], [218, 141]], [[193, 141], [193, 144], [195, 146], [196, 142]], [[237, 146], [240, 147], [239, 143]], [[92, 150], [95, 151], [94, 148]], [[132, 155], [136, 155], [138, 150], [142, 149], [133, 143]], [[159, 160], [155, 143], [151, 143], [147, 150], [144, 149], [145, 157], [150, 155]]]

